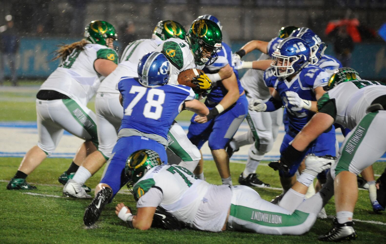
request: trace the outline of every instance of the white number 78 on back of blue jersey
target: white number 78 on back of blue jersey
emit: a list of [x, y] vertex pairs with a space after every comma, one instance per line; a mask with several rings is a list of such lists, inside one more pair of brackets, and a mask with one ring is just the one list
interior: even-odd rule
[[[146, 91], [148, 89], [144, 86], [132, 86], [130, 89], [131, 94], [137, 93], [137, 95], [134, 97], [134, 99], [130, 102], [129, 106], [125, 108], [125, 115], [131, 115], [133, 112], [133, 108], [139, 100], [146, 94]], [[154, 100], [154, 96], [158, 96], [157, 100]], [[149, 119], [159, 119], [161, 118], [162, 110], [163, 107], [162, 105], [165, 102], [165, 92], [163, 90], [159, 90], [157, 88], [151, 88], [147, 92], [147, 97], [146, 97], [147, 103], [145, 104], [144, 110], [143, 110], [143, 115], [146, 118]], [[151, 108], [154, 107], [155, 110], [154, 112], [151, 111]]]

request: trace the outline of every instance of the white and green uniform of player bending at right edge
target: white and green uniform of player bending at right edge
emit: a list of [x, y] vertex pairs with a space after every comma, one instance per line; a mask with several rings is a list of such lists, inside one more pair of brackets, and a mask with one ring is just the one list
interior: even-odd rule
[[386, 111], [366, 111], [374, 100], [386, 108], [386, 85], [366, 80], [343, 82], [318, 100], [319, 112], [331, 115], [335, 123], [351, 130], [331, 167], [333, 178], [341, 171], [360, 174], [386, 151]]

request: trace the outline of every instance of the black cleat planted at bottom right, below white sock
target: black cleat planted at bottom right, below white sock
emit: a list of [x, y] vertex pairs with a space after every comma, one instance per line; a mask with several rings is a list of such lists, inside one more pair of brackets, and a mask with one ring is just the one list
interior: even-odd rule
[[355, 240], [358, 236], [354, 230], [354, 222], [345, 222], [339, 224], [336, 217], [334, 217], [334, 225], [332, 229], [326, 234], [318, 237], [319, 241], [350, 241]]

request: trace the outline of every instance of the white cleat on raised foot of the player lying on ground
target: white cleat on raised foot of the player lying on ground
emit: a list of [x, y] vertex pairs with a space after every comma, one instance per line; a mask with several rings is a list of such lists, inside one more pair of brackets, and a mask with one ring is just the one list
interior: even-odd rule
[[317, 176], [323, 170], [331, 168], [335, 160], [336, 158], [330, 155], [315, 156], [315, 154], [308, 154], [305, 161], [306, 169], [302, 173]]

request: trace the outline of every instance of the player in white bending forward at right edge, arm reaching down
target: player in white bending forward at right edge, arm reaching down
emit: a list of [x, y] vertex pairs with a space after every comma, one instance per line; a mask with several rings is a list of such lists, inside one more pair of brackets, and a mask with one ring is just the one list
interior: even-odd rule
[[288, 168], [334, 122], [351, 130], [331, 167], [337, 217], [332, 230], [319, 237], [322, 241], [350, 240], [357, 237], [352, 222], [358, 198], [356, 176], [386, 151], [386, 85], [361, 80], [352, 68], [340, 68], [327, 87], [330, 90], [318, 100], [318, 113], [281, 154], [280, 164]]

